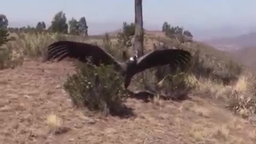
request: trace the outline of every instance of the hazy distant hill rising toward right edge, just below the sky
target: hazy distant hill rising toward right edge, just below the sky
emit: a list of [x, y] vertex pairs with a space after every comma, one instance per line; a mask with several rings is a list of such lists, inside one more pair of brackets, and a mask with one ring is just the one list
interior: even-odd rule
[[231, 51], [241, 49], [243, 47], [256, 46], [256, 33], [249, 33], [244, 35], [239, 35], [236, 37], [228, 38], [218, 38], [211, 39], [209, 41], [204, 41], [207, 44], [210, 44], [217, 49], [224, 51]]

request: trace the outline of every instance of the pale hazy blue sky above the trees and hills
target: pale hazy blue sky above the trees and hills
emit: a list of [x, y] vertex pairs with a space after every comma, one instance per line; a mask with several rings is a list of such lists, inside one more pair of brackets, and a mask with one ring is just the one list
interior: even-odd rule
[[[198, 34], [225, 27], [246, 30], [256, 26], [255, 0], [143, 0], [142, 3], [144, 26], [148, 29], [161, 29], [164, 21]], [[68, 20], [84, 16], [91, 34], [118, 29], [123, 21], [134, 21], [134, 0], [8, 0], [1, 4], [1, 13], [7, 16], [10, 26], [36, 25], [37, 21], [50, 24], [54, 14], [61, 10]]]

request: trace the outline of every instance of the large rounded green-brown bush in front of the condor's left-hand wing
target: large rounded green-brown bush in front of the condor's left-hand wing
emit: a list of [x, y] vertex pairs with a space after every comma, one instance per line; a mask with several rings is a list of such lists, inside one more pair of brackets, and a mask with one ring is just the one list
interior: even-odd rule
[[78, 63], [76, 70], [77, 74], [68, 76], [64, 84], [75, 106], [106, 115], [121, 113], [125, 96], [123, 77], [112, 66]]

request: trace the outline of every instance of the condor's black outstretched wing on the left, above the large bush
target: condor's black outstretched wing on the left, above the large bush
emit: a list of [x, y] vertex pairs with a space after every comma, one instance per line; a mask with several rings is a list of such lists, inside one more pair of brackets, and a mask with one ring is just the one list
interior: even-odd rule
[[119, 65], [119, 62], [116, 61], [114, 57], [97, 45], [59, 41], [47, 47], [47, 60], [57, 59], [57, 61], [60, 61], [67, 57], [75, 58], [82, 62], [86, 62], [87, 58], [91, 57], [92, 63], [97, 66], [99, 66], [100, 63], [105, 65]]

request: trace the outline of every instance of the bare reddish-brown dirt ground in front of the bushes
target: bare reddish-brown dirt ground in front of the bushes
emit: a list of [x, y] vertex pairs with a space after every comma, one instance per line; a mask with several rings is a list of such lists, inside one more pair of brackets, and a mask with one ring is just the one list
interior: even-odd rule
[[256, 143], [254, 125], [199, 95], [128, 99], [129, 118], [77, 109], [62, 89], [70, 72], [67, 61], [0, 71], [0, 143]]

